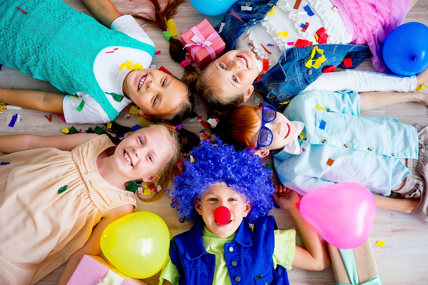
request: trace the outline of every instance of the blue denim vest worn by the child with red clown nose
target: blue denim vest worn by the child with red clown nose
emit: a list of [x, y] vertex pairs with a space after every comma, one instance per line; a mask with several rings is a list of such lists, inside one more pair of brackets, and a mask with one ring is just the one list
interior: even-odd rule
[[[208, 285], [213, 282], [215, 255], [208, 253], [202, 243], [204, 225], [203, 220], [198, 219], [189, 231], [171, 240], [169, 256], [180, 274], [180, 285]], [[273, 268], [274, 229], [276, 223], [273, 216], [260, 217], [254, 222], [253, 231], [244, 219], [232, 242], [224, 244], [232, 285], [289, 285], [285, 268], [279, 265]]]

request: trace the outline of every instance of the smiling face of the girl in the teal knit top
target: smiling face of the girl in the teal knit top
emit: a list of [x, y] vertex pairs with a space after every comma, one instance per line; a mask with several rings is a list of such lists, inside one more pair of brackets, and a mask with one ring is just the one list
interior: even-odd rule
[[131, 71], [123, 92], [140, 108], [140, 115], [171, 114], [186, 100], [187, 88], [175, 77], [153, 68]]

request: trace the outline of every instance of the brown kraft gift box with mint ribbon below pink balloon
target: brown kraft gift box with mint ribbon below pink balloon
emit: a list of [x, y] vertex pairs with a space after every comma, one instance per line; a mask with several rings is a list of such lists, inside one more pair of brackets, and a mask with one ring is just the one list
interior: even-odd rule
[[340, 250], [328, 244], [328, 251], [336, 285], [381, 285], [375, 255], [369, 240], [353, 250]]

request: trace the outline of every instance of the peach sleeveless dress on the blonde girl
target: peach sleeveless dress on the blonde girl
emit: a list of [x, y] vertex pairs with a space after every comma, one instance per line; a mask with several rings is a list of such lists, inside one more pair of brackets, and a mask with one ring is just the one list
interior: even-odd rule
[[[100, 135], [71, 152], [56, 148], [0, 156], [0, 284], [34, 284], [85, 244], [102, 215], [137, 205], [132, 192], [98, 173]], [[58, 194], [63, 186], [65, 191]]]

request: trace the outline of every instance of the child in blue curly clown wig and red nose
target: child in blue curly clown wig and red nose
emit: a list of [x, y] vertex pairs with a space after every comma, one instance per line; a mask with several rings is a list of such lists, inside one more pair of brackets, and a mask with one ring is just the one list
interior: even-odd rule
[[[174, 181], [171, 205], [195, 224], [172, 238], [160, 284], [288, 285], [292, 266], [325, 269], [328, 254], [300, 215], [297, 193], [274, 194], [271, 171], [253, 150], [217, 144], [202, 141]], [[293, 217], [305, 249], [295, 245], [294, 229], [278, 230], [266, 215], [272, 197]]]

